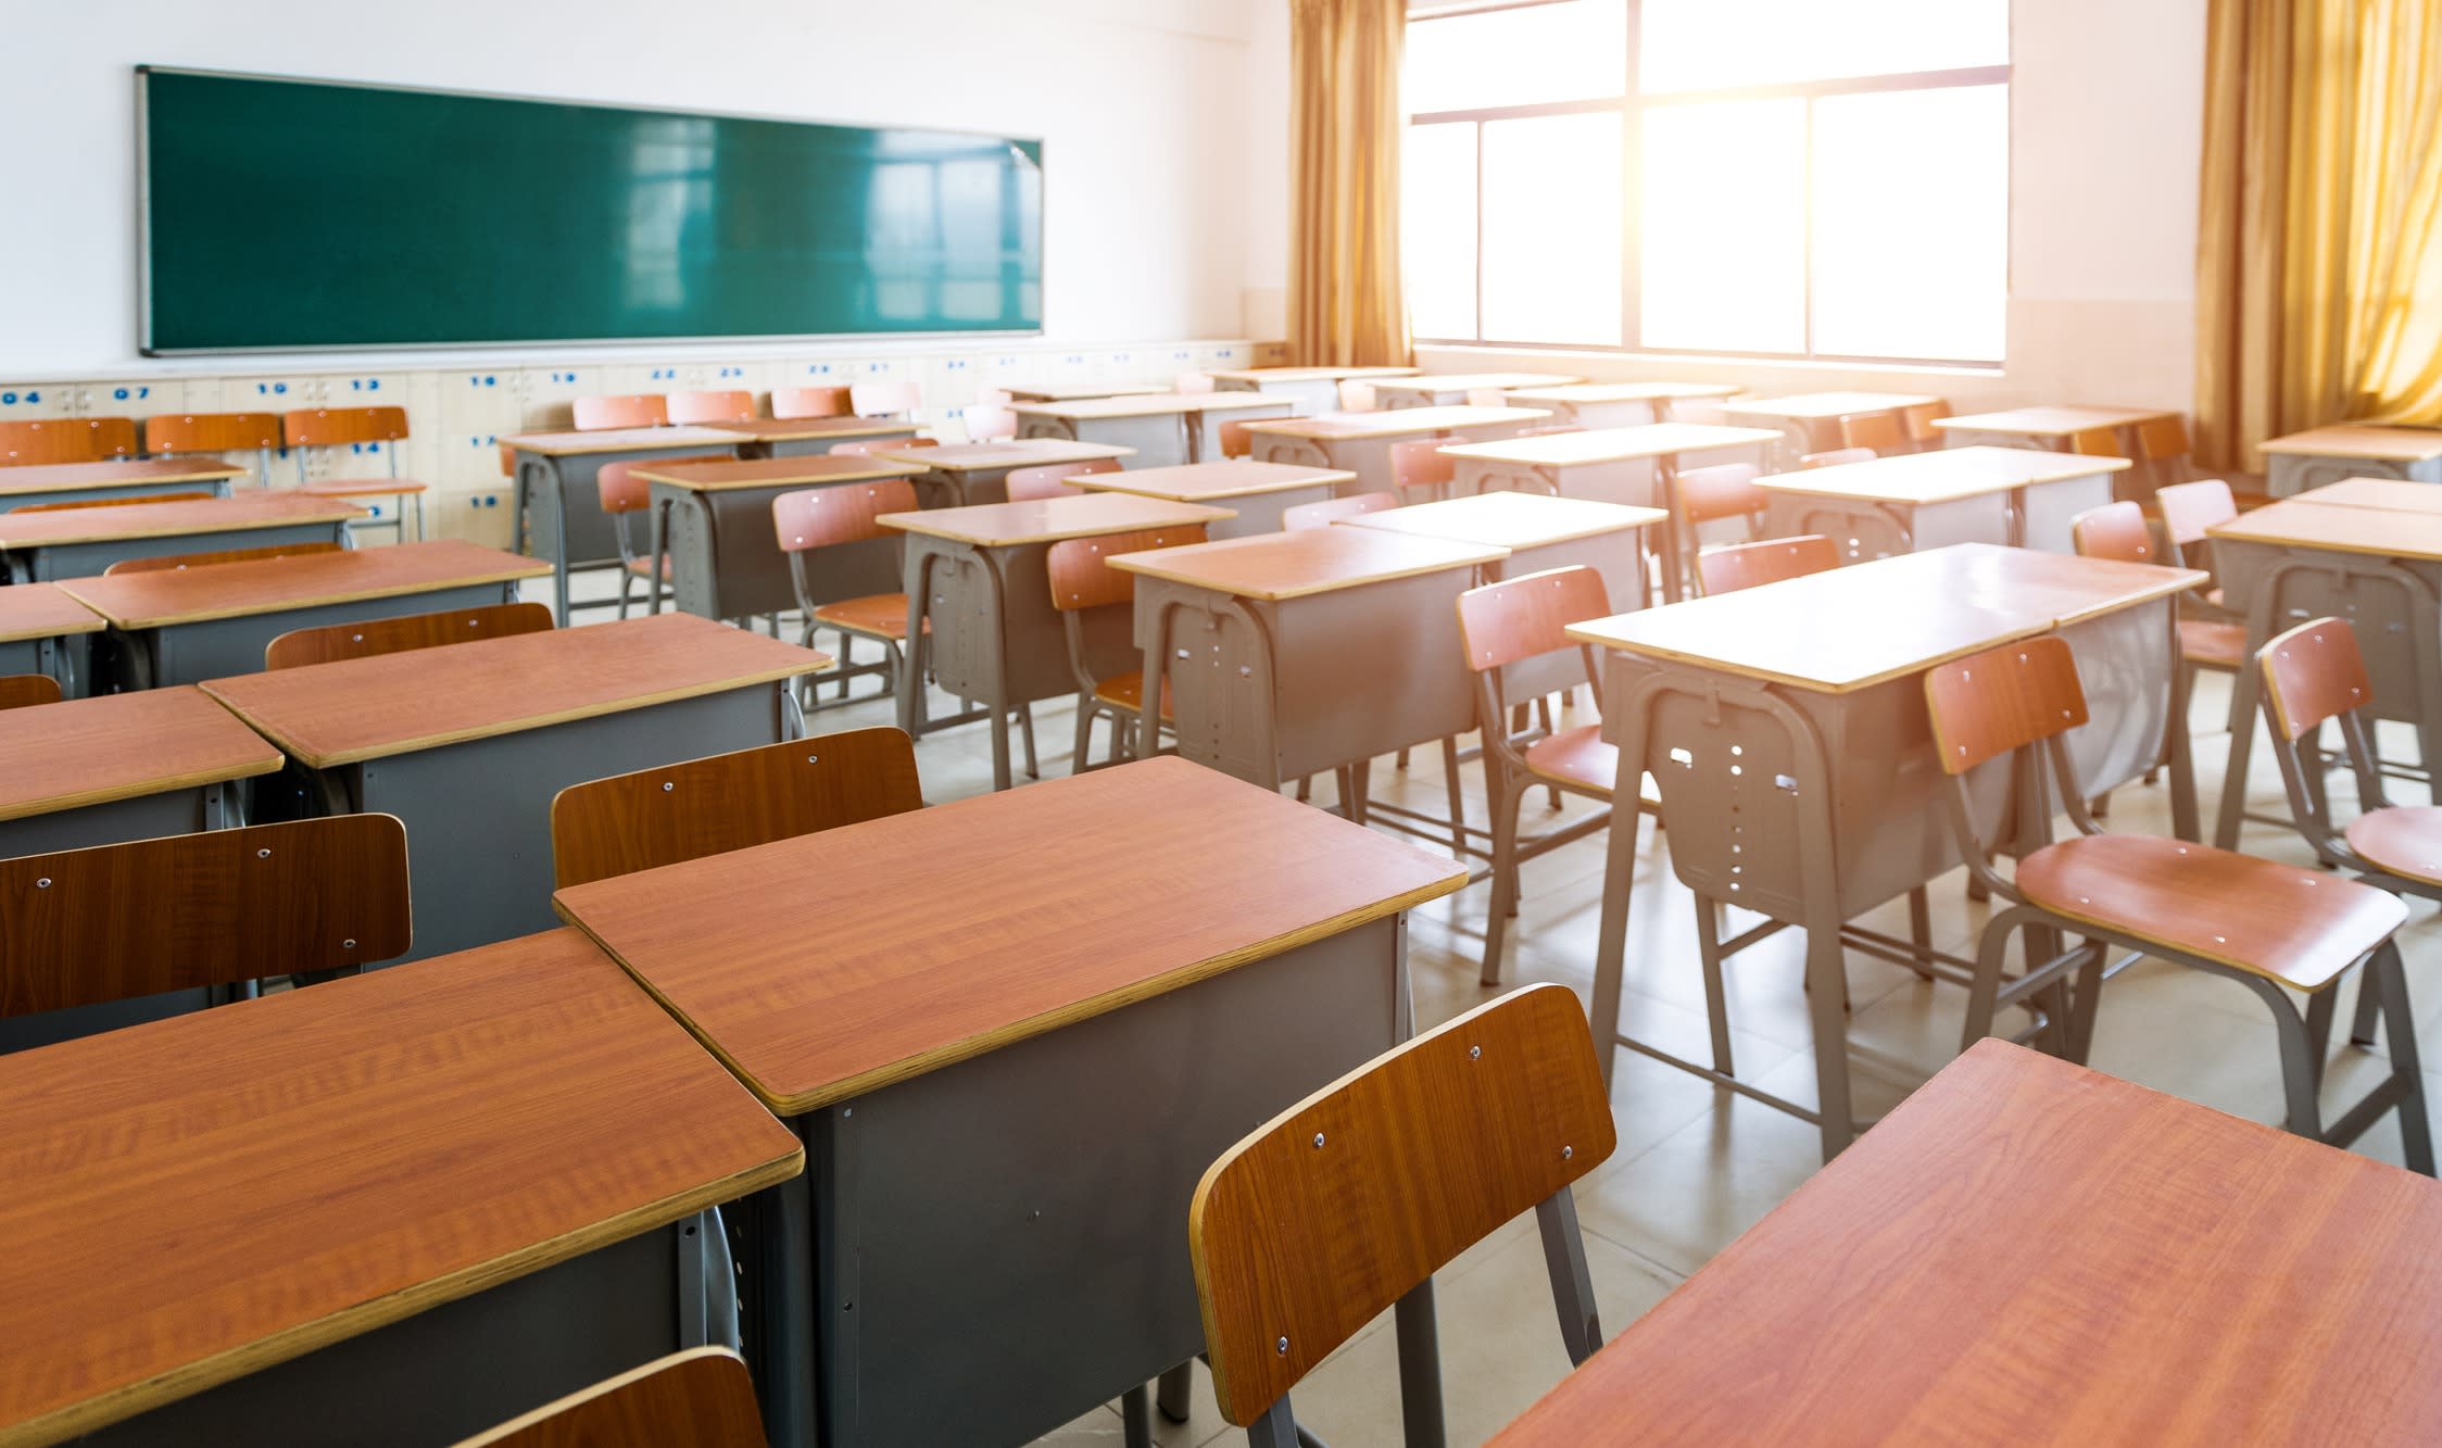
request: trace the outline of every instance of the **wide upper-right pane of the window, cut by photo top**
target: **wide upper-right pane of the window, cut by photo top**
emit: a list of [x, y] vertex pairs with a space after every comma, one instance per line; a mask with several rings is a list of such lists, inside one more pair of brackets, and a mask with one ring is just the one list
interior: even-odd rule
[[1639, 39], [1646, 93], [2007, 66], [2010, 2], [1646, 0]]

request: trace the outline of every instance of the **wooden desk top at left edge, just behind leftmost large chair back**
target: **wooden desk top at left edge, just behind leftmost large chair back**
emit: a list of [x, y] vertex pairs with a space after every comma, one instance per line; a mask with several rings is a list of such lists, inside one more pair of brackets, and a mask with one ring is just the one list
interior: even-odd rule
[[271, 774], [281, 752], [200, 689], [0, 708], [0, 820]]

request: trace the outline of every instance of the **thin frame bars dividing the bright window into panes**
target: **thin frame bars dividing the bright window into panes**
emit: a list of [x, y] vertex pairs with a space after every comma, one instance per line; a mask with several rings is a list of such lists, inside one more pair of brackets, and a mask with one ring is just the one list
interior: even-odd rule
[[[1538, 5], [1563, 5], [1568, 0], [1458, 0], [1446, 5], [1411, 5], [1409, 24], [1431, 24], [1433, 20], [1448, 20], [1455, 15], [1487, 15], [1495, 10], [1534, 10]], [[1871, 95], [1871, 93], [1895, 93], [1895, 90], [1956, 90], [1971, 85], [2002, 85], [2007, 88], [2010, 71], [2015, 66], [2015, 34], [2012, 51], [1998, 66], [1961, 66], [1949, 71], [1893, 71], [1883, 76], [1839, 76], [1829, 81], [1780, 81], [1770, 85], [1731, 85], [1714, 90], [1665, 90], [1656, 95], [1643, 93], [1639, 46], [1643, 42], [1643, 0], [1619, 0], [1626, 7], [1626, 83], [1621, 95], [1604, 95], [1595, 100], [1548, 100], [1531, 105], [1482, 105], [1468, 110], [1431, 110], [1409, 112], [1402, 125], [1402, 147], [1407, 132], [1419, 125], [1473, 125], [1475, 127], [1475, 337], [1416, 337], [1419, 347], [1502, 347], [1519, 352], [1619, 352], [1639, 357], [1707, 357], [1726, 361], [1814, 361], [1814, 364], [1839, 364], [1839, 366], [1883, 366], [1883, 369], [1966, 369], [1966, 371], [2000, 371], [2002, 359], [1956, 359], [1956, 357], [1851, 357], [1836, 352], [1814, 349], [1814, 103], [1832, 95]], [[1724, 100], [1805, 100], [1805, 173], [1807, 195], [1797, 203], [1797, 222], [1805, 232], [1805, 259], [1802, 259], [1802, 325], [1805, 325], [1805, 349], [1802, 352], [1741, 352], [1741, 349], [1709, 349], [1709, 347], [1646, 347], [1643, 344], [1643, 115], [1646, 110], [1663, 105], [1702, 105]], [[1485, 337], [1485, 122], [1495, 120], [1526, 120], [1543, 115], [1602, 115], [1619, 112], [1619, 344], [1609, 347], [1602, 342], [1507, 342], [1499, 337]], [[2005, 156], [2007, 164], [2007, 156]], [[2010, 215], [2015, 212], [2017, 193], [2005, 188], [2002, 195], [2002, 276], [2010, 276], [2015, 227], [2010, 227]], [[1404, 222], [1404, 217], [1402, 217]], [[2002, 320], [2002, 349], [2007, 352], [2007, 320]]]

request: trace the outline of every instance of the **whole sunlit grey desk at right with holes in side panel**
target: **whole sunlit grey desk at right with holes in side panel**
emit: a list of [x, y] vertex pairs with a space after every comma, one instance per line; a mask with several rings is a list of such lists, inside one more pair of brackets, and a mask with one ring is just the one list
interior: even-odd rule
[[[1958, 545], [1568, 630], [1607, 650], [1602, 733], [1621, 769], [1643, 762], [1658, 784], [1670, 867], [1695, 891], [1700, 928], [1712, 903], [1731, 903], [1807, 933], [1827, 1160], [1853, 1135], [1844, 943], [1910, 950], [1849, 921], [1958, 864], [1924, 672], [2020, 637], [2063, 637], [2088, 691], [2090, 718], [2068, 733], [2083, 789], [2142, 776], [2168, 742], [2173, 820], [2193, 840], [2173, 601], [2200, 581], [2193, 569]], [[2037, 830], [2032, 818], [2002, 830], [2022, 784], [2010, 759], [1971, 774], [1985, 838], [2015, 838], [2017, 852]], [[1619, 1040], [1639, 820], [1639, 794], [1619, 791], [1595, 967], [1604, 1043]]]

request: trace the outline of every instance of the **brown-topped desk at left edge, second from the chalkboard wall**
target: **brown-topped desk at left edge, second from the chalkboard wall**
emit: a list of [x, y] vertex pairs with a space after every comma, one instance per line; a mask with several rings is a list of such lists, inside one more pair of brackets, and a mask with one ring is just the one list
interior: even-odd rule
[[63, 513], [0, 513], [0, 567], [12, 584], [81, 579], [120, 559], [181, 552], [276, 547], [283, 542], [347, 545], [347, 525], [369, 518], [337, 498], [249, 491], [237, 498], [188, 503], [120, 503]]

